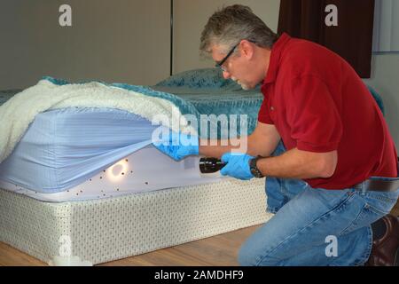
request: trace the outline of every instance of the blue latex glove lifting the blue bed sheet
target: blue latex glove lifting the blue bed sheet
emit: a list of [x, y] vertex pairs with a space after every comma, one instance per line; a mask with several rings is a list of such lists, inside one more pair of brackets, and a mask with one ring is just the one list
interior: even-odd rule
[[176, 161], [191, 154], [199, 154], [200, 151], [198, 136], [173, 131], [166, 138], [153, 142], [153, 146]]

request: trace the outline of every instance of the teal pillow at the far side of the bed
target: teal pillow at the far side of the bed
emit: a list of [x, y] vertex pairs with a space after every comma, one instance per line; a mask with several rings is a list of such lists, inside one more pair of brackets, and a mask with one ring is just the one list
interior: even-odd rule
[[235, 84], [225, 80], [219, 68], [193, 69], [172, 75], [157, 83], [156, 87], [186, 87], [193, 89], [219, 89]]

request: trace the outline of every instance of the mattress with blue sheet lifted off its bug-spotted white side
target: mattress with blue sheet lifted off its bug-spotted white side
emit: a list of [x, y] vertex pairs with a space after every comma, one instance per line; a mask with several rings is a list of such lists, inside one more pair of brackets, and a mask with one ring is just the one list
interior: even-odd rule
[[0, 164], [0, 185], [43, 201], [76, 201], [222, 178], [202, 176], [199, 157], [176, 162], [160, 153], [151, 145], [155, 127], [116, 109], [66, 108], [38, 114]]

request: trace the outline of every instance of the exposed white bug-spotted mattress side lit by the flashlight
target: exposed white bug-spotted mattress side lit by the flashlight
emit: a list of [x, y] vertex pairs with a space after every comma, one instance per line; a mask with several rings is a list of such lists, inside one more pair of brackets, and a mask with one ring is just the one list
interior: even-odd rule
[[231, 177], [201, 174], [200, 157], [189, 156], [180, 162], [146, 146], [64, 192], [40, 193], [0, 180], [0, 187], [40, 201], [86, 201], [145, 193], [177, 186], [216, 183]]

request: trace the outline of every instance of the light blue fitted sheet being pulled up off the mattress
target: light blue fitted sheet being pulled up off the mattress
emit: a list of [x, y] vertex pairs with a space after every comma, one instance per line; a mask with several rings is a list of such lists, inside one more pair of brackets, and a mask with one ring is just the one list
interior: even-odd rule
[[44, 112], [0, 164], [0, 180], [39, 193], [65, 191], [149, 145], [153, 129], [151, 122], [116, 109]]

